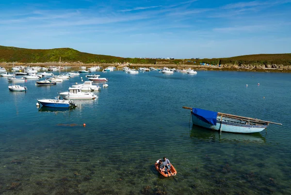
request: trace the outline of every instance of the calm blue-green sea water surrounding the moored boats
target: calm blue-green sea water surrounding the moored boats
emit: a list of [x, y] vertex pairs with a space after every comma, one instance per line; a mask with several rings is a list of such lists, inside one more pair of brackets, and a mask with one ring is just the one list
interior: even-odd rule
[[[55, 86], [28, 80], [26, 93], [0, 78], [0, 194], [291, 194], [291, 74], [98, 74], [109, 87], [69, 111], [38, 109], [36, 98], [86, 74]], [[283, 125], [219, 135], [193, 126], [182, 106]], [[153, 167], [163, 156], [176, 181]]]

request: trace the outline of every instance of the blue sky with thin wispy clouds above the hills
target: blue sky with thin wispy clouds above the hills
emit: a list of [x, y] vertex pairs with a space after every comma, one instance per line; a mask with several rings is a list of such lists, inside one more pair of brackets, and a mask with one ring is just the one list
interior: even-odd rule
[[291, 0], [1, 0], [0, 45], [122, 57], [291, 53]]

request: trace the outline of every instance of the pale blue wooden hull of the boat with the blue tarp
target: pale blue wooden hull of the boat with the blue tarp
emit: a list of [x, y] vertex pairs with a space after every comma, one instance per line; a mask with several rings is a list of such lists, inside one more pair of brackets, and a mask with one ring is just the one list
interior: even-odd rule
[[192, 123], [194, 125], [202, 126], [216, 131], [221, 130], [230, 133], [257, 133], [268, 127], [268, 125], [248, 125], [246, 123], [243, 124], [239, 120], [234, 120], [227, 117], [223, 117], [222, 120], [219, 117], [217, 119], [216, 125], [211, 125], [199, 119], [193, 112]]

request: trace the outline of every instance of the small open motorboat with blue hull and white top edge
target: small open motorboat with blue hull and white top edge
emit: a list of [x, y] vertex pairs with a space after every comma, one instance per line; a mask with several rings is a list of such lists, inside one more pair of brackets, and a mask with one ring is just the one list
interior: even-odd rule
[[38, 98], [37, 102], [43, 106], [51, 108], [74, 108], [76, 104], [69, 99], [60, 99], [55, 97], [54, 99]]

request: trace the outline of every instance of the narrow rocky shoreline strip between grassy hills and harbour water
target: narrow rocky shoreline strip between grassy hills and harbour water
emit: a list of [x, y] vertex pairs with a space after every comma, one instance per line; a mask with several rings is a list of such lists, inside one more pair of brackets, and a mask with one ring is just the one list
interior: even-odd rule
[[[12, 68], [12, 62], [1, 62], [1, 67], [4, 68]], [[188, 69], [192, 68], [195, 70], [227, 70], [227, 71], [262, 71], [262, 72], [291, 72], [291, 66], [283, 66], [283, 65], [256, 65], [256, 64], [240, 64], [240, 65], [233, 65], [233, 64], [222, 64], [218, 65], [194, 65], [194, 64], [164, 64], [164, 63], [157, 63], [157, 64], [119, 64], [119, 63], [91, 63], [91, 64], [84, 64], [82, 62], [45, 62], [45, 63], [19, 63], [15, 62], [14, 66], [40, 66], [40, 67], [50, 67], [50, 66], [61, 66], [61, 67], [72, 67], [72, 68], [79, 68], [81, 66], [85, 66], [87, 68], [93, 66], [100, 66], [100, 67], [108, 67], [114, 66], [116, 68], [122, 68], [125, 66], [132, 67], [132, 68], [139, 68], [139, 67], [155, 67], [155, 68], [176, 68], [176, 69]]]

